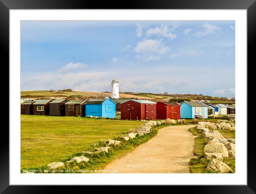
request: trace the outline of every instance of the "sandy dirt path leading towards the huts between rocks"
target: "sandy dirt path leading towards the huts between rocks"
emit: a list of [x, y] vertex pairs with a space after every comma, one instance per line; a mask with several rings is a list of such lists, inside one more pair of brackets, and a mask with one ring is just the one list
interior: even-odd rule
[[164, 127], [151, 140], [104, 169], [118, 173], [189, 173], [196, 136], [188, 129], [194, 126]]

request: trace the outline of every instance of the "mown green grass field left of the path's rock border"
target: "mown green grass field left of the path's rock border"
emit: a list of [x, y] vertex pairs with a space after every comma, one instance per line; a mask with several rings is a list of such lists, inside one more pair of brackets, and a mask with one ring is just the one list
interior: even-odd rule
[[140, 121], [21, 115], [21, 168], [67, 160], [90, 144], [119, 136]]

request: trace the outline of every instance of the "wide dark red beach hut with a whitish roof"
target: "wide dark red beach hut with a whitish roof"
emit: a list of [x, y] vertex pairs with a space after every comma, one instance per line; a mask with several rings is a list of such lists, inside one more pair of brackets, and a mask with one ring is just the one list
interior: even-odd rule
[[127, 100], [121, 103], [122, 120], [156, 120], [156, 103], [149, 100]]

